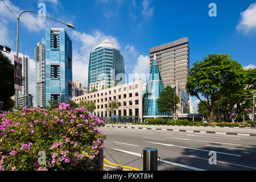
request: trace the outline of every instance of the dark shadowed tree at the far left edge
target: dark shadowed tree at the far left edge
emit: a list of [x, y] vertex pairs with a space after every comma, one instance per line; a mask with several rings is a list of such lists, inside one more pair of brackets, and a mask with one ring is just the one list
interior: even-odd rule
[[0, 51], [0, 101], [3, 101], [3, 110], [13, 107], [11, 96], [14, 96], [14, 65], [11, 60]]

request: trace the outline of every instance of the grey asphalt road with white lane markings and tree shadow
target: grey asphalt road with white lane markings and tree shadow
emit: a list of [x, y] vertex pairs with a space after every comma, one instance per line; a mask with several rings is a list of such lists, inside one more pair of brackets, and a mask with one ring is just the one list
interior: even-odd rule
[[[256, 170], [256, 137], [253, 136], [115, 127], [98, 129], [108, 137], [104, 141], [105, 159], [125, 166], [123, 170], [143, 169], [144, 147], [158, 148], [159, 171]], [[216, 152], [216, 164], [209, 164], [210, 151]]]

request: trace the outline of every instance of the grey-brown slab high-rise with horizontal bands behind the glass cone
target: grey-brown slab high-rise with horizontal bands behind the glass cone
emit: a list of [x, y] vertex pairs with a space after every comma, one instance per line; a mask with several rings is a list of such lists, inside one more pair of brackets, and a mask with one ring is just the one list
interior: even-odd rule
[[178, 82], [180, 87], [185, 90], [189, 69], [188, 38], [151, 48], [150, 67], [152, 67], [154, 54], [156, 54], [158, 60], [164, 86], [171, 85], [174, 88], [176, 82]]

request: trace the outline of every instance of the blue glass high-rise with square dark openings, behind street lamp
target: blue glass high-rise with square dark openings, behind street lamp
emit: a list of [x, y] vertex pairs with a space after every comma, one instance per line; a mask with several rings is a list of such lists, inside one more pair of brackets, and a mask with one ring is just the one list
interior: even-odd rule
[[46, 107], [72, 98], [72, 41], [64, 28], [46, 28]]

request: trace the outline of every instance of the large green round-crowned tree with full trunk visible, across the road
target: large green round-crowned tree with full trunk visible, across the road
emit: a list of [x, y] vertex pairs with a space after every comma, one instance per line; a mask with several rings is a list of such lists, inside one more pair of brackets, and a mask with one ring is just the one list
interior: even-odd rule
[[236, 93], [245, 88], [245, 73], [241, 64], [232, 60], [228, 54], [211, 54], [196, 61], [189, 69], [186, 89], [191, 96], [200, 101], [199, 93], [206, 98], [202, 102], [209, 111], [209, 122], [213, 122], [215, 102], [223, 94]]

